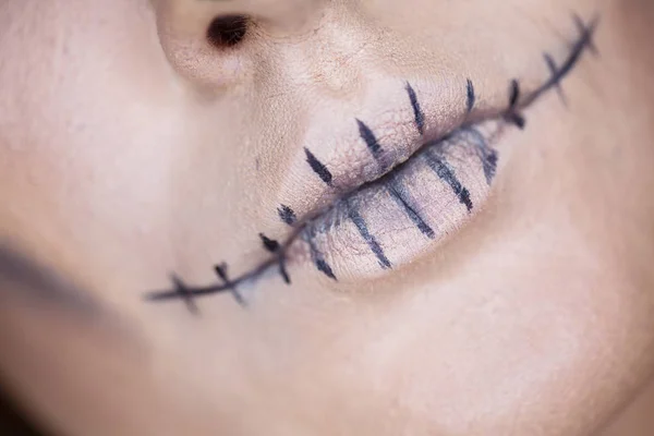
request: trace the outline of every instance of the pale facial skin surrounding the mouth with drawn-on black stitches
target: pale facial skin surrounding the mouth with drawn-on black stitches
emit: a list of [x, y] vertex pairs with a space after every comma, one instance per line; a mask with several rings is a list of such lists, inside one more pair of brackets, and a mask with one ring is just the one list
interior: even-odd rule
[[[600, 17], [598, 56], [560, 84], [567, 105], [553, 89], [524, 130], [504, 123], [488, 194], [447, 238], [368, 274], [343, 235], [347, 280], [299, 256], [245, 307], [144, 299], [269, 258], [258, 233], [291, 233], [279, 205], [326, 191], [303, 147], [347, 155], [356, 118], [387, 146], [415, 134], [407, 82], [427, 126], [468, 78], [472, 117], [501, 120], [512, 78], [529, 93], [544, 52], [569, 55], [571, 11]], [[209, 44], [228, 13], [252, 28]], [[652, 20], [647, 0], [0, 2], [4, 383], [66, 435], [638, 435]], [[338, 180], [360, 168], [342, 161]]]

